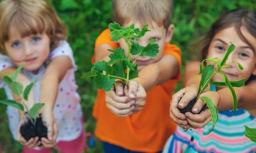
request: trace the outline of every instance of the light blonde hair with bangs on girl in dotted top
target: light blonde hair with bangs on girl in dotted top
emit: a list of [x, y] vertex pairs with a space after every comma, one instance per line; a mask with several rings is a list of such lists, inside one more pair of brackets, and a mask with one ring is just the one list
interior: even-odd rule
[[44, 0], [3, 0], [0, 3], [0, 53], [9, 40], [10, 27], [22, 37], [46, 32], [51, 39], [51, 51], [60, 40], [67, 39], [66, 26], [61, 22], [52, 6]]

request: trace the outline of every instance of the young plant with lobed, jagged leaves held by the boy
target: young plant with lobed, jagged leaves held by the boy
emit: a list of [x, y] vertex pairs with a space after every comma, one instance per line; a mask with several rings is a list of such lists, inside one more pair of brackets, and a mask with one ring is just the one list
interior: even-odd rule
[[[135, 28], [134, 25], [128, 26], [127, 28], [121, 27], [118, 23], [112, 23], [109, 26], [111, 31], [111, 41], [118, 41], [124, 39], [128, 56], [125, 56], [125, 50], [121, 47], [114, 50], [108, 49], [112, 52], [109, 55], [110, 61], [98, 61], [96, 62], [90, 72], [84, 74], [81, 78], [94, 77], [93, 82], [96, 84], [98, 89], [104, 89], [110, 91], [113, 88], [115, 79], [121, 79], [128, 85], [128, 81], [138, 77], [137, 65], [135, 62], [140, 56], [156, 57], [159, 52], [158, 44], [154, 43], [155, 39], [150, 40], [147, 46], [140, 46], [139, 43], [134, 43], [134, 40], [139, 39], [149, 32], [148, 25], [144, 25], [140, 30]], [[131, 55], [138, 55], [134, 61], [130, 61]], [[103, 73], [105, 71], [105, 74]]]

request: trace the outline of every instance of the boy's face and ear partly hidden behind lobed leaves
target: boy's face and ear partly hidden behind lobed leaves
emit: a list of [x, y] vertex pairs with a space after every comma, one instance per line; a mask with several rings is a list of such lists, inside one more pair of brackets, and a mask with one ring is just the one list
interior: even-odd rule
[[[139, 28], [139, 29], [143, 28], [143, 24], [141, 24], [140, 22], [136, 22], [136, 23], [130, 22], [130, 23], [126, 23], [122, 26], [128, 27], [132, 24], [134, 24], [136, 28]], [[171, 41], [174, 26], [170, 25], [169, 28], [166, 31], [166, 28], [164, 26], [159, 27], [159, 26], [157, 26], [156, 23], [152, 23], [152, 24], [148, 24], [148, 29], [151, 30], [151, 32], [146, 32], [145, 35], [142, 38], [134, 40], [134, 42], [139, 43], [140, 46], [147, 46], [147, 44], [149, 43], [149, 41], [151, 39], [156, 39], [155, 43], [158, 43], [158, 45], [159, 45], [159, 53], [154, 58], [148, 57], [148, 56], [139, 57], [137, 59], [137, 61], [135, 62], [135, 64], [138, 64], [138, 71], [143, 69], [148, 64], [152, 64], [152, 63], [155, 63], [155, 62], [159, 61], [163, 57], [164, 44], [169, 43]], [[120, 39], [119, 40], [119, 45], [120, 45], [120, 47], [125, 49], [125, 55], [127, 56], [128, 55], [128, 49], [127, 49], [125, 40]], [[131, 55], [130, 59], [131, 59], [131, 61], [134, 61], [136, 58], [137, 58], [137, 55]]]

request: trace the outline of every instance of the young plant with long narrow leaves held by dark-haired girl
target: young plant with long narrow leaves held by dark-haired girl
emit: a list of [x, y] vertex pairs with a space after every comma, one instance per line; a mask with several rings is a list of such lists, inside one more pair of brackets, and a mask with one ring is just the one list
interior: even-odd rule
[[[218, 86], [218, 87], [226, 86], [230, 89], [230, 92], [232, 93], [232, 97], [233, 97], [233, 114], [236, 112], [237, 98], [236, 98], [236, 92], [235, 92], [233, 87], [242, 87], [242, 86], [244, 86], [245, 79], [241, 79], [241, 80], [238, 80], [238, 81], [229, 81], [229, 79], [227, 78], [225, 73], [220, 71], [221, 69], [224, 69], [225, 67], [230, 67], [230, 66], [224, 65], [224, 64], [226, 64], [228, 56], [230, 55], [231, 52], [233, 52], [234, 49], [235, 49], [235, 46], [231, 43], [231, 45], [227, 49], [227, 52], [224, 55], [224, 58], [222, 59], [221, 62], [219, 61], [218, 58], [208, 58], [208, 59], [205, 59], [205, 60], [202, 61], [202, 63], [200, 64], [200, 72], [197, 73], [197, 74], [202, 73], [202, 77], [201, 77], [201, 81], [200, 81], [199, 89], [198, 89], [198, 97], [196, 97], [195, 99], [190, 101], [189, 105], [186, 108], [179, 109], [181, 113], [183, 113], [183, 114], [185, 114], [186, 112], [191, 112], [192, 113], [191, 109], [194, 106], [196, 100], [198, 98], [201, 98], [206, 102], [206, 104], [209, 107], [209, 110], [211, 112], [211, 115], [212, 115], [212, 129], [215, 127], [215, 124], [218, 120], [217, 108], [215, 107], [215, 105], [213, 104], [213, 102], [210, 98], [208, 98], [208, 97], [199, 97], [199, 95], [201, 95], [201, 93], [204, 92], [204, 90], [208, 87], [209, 84], [213, 84], [213, 85]], [[213, 65], [207, 65], [205, 67], [203, 66], [204, 62], [209, 62], [209, 61], [215, 62], [217, 64], [218, 67], [217, 67], [216, 70], [214, 70]], [[233, 62], [235, 62], [235, 61], [233, 61]], [[230, 62], [230, 63], [233, 63], [233, 62]], [[235, 62], [235, 63], [237, 63], [237, 62]], [[237, 64], [239, 66], [239, 69], [242, 70], [243, 66], [241, 66], [241, 64], [239, 64], [239, 63], [237, 63]], [[215, 75], [216, 73], [220, 73], [223, 76], [224, 81], [211, 82], [212, 76]], [[204, 111], [205, 109], [207, 109], [207, 106], [204, 105], [204, 107], [201, 111]], [[212, 129], [209, 131], [209, 133], [212, 131]]]

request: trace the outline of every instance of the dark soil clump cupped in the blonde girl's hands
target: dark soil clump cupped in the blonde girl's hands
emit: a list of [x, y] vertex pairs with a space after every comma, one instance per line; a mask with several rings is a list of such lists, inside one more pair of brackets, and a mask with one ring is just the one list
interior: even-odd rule
[[[32, 120], [34, 121], [34, 119]], [[29, 121], [26, 124], [20, 126], [20, 134], [26, 139], [26, 141], [29, 141], [30, 138], [35, 138], [36, 136], [39, 137], [40, 141], [43, 137], [47, 138], [47, 127], [44, 126], [41, 117], [36, 119], [35, 126], [29, 119]]]

